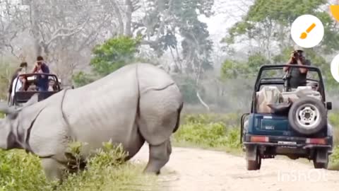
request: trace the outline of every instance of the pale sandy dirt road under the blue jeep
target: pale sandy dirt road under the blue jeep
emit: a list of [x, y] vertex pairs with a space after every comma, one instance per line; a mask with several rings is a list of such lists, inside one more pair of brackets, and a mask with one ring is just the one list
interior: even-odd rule
[[[148, 161], [148, 146], [144, 145], [132, 160]], [[242, 157], [173, 148], [159, 181], [166, 191], [331, 191], [339, 189], [339, 172], [277, 158], [263, 160], [261, 170], [247, 171]]]

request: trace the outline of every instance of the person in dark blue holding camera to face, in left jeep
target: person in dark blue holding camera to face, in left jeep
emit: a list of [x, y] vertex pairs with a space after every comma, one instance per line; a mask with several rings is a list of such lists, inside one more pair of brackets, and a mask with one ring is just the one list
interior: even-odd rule
[[[37, 57], [37, 62], [33, 69], [33, 73], [39, 74], [49, 74], [49, 67], [44, 62], [44, 58], [39, 56]], [[37, 91], [48, 91], [48, 76], [39, 75], [37, 76]]]

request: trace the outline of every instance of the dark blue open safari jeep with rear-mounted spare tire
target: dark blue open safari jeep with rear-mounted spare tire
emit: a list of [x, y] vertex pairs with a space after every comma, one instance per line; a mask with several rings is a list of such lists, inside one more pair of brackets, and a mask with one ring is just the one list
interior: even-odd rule
[[[290, 91], [283, 67], [308, 69], [308, 84]], [[281, 75], [280, 75], [281, 74]], [[278, 77], [277, 77], [278, 76]], [[332, 153], [332, 127], [321, 71], [314, 66], [264, 65], [258, 71], [251, 112], [241, 118], [241, 141], [247, 170], [261, 168], [261, 159], [277, 155], [308, 158], [314, 168], [327, 168]]]

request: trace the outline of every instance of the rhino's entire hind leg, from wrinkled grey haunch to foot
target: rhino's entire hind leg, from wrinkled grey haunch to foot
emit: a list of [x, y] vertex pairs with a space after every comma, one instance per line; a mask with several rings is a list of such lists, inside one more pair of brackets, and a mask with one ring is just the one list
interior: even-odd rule
[[179, 126], [182, 96], [177, 86], [141, 94], [138, 128], [148, 142], [150, 156], [145, 172], [160, 173], [172, 153], [170, 137]]

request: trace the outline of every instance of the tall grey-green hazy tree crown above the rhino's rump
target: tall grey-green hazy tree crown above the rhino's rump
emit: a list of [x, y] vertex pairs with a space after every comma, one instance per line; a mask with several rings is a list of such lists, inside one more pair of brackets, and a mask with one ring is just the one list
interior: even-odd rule
[[[147, 0], [148, 14], [138, 24], [148, 28], [146, 37], [155, 35], [155, 42], [150, 47], [160, 57], [166, 50], [176, 52], [178, 62], [186, 62], [189, 72], [201, 65], [203, 69], [211, 69], [210, 53], [212, 41], [206, 23], [199, 21], [198, 16], [212, 15], [214, 0]], [[152, 26], [150, 28], [149, 26]], [[183, 37], [179, 55], [177, 33]], [[176, 50], [176, 51], [174, 51]], [[181, 57], [182, 56], [182, 57]]]

